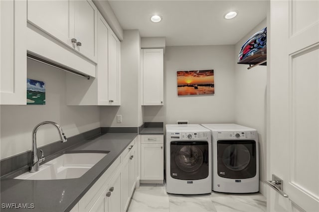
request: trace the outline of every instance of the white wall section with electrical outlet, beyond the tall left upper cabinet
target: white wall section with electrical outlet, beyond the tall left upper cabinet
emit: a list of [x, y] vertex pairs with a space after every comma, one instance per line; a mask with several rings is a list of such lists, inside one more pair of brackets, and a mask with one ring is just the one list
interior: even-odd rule
[[[137, 127], [142, 120], [139, 106], [141, 37], [139, 30], [124, 30], [121, 42], [121, 106], [101, 106], [102, 127]], [[117, 122], [122, 115], [122, 122]]]

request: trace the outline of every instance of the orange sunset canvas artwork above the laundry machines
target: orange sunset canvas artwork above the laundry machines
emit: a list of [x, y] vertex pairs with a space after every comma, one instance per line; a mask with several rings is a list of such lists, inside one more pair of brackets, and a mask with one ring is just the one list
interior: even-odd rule
[[214, 93], [214, 70], [177, 71], [178, 96]]

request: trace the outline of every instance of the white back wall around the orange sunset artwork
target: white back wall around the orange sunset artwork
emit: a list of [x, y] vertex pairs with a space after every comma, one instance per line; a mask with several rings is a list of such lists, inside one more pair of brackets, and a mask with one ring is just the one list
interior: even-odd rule
[[[145, 122], [234, 122], [234, 45], [168, 46], [164, 54], [164, 106], [144, 106]], [[177, 71], [214, 70], [215, 95], [177, 96]]]

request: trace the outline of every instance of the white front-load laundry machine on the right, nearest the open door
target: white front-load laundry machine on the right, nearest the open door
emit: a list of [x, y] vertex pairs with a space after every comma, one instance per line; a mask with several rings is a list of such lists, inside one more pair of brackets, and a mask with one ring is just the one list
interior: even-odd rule
[[256, 129], [238, 124], [202, 124], [212, 136], [212, 190], [225, 193], [259, 191]]

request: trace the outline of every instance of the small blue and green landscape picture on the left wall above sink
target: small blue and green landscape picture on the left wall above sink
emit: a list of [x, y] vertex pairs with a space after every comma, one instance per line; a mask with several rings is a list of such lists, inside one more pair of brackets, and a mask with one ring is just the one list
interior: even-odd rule
[[45, 105], [45, 83], [26, 79], [26, 104]]

